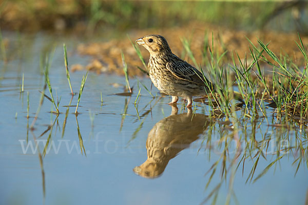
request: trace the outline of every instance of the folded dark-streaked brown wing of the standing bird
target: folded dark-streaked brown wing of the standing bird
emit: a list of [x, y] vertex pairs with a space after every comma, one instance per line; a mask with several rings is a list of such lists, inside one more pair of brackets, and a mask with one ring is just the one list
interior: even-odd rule
[[197, 85], [206, 85], [209, 81], [198, 71], [184, 60], [171, 61], [166, 64], [166, 68], [177, 78], [195, 83]]

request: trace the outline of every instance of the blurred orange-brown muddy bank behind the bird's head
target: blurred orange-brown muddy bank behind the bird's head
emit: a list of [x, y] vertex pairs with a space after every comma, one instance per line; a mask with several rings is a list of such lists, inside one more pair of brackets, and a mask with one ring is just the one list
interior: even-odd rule
[[[182, 43], [183, 39], [187, 39], [190, 42], [190, 49], [194, 54], [197, 63], [206, 68], [208, 65], [202, 64], [202, 62], [204, 62], [204, 58], [209, 57], [209, 49], [213, 50], [212, 33], [214, 39], [214, 51], [216, 54], [220, 55], [226, 51], [221, 62], [222, 66], [233, 64], [233, 55], [237, 61], [236, 52], [239, 54], [241, 59], [244, 59], [245, 56], [247, 56], [248, 61], [251, 59], [249, 48], [252, 48], [252, 45], [249, 43], [247, 38], [258, 48], [260, 48], [257, 42], [258, 39], [265, 44], [269, 43], [268, 48], [278, 57], [282, 54], [284, 57], [290, 57], [290, 59], [292, 59], [292, 61], [299, 67], [304, 66], [305, 59], [296, 45], [296, 42], [299, 42], [297, 33], [282, 33], [275, 31], [246, 32], [209, 24], [191, 23], [187, 26], [169, 29], [131, 31], [127, 35], [133, 42], [137, 38], [148, 34], [163, 35], [168, 40], [172, 52], [192, 64], [192, 61], [188, 57]], [[78, 52], [81, 55], [90, 55], [93, 58], [86, 66], [73, 65], [71, 67], [72, 71], [87, 69], [97, 73], [115, 73], [123, 75], [121, 59], [121, 51], [123, 51], [125, 61], [128, 65], [129, 74], [138, 76], [144, 75], [144, 73], [137, 68], [144, 67], [127, 35], [123, 33], [122, 37], [109, 40], [108, 42], [79, 45]], [[308, 44], [307, 36], [301, 36], [301, 38], [304, 45]], [[206, 51], [204, 50], [206, 49], [205, 46], [208, 46]], [[143, 47], [140, 47], [140, 50], [147, 64], [149, 53]], [[270, 59], [268, 56], [266, 57], [267, 59]]]

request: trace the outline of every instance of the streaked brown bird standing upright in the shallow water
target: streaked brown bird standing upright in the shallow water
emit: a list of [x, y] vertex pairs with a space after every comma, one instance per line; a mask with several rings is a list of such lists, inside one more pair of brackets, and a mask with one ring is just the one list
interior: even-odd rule
[[172, 96], [169, 105], [176, 104], [180, 96], [187, 99], [187, 107], [191, 107], [192, 96], [205, 95], [209, 88], [213, 89], [200, 71], [171, 52], [163, 36], [147, 35], [136, 42], [149, 51], [149, 76], [158, 90]]

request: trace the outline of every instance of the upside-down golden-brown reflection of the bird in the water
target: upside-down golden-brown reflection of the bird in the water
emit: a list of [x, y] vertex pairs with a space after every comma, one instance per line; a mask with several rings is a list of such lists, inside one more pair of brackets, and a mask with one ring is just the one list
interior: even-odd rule
[[169, 160], [197, 140], [209, 124], [206, 115], [193, 114], [191, 109], [178, 114], [177, 106], [172, 106], [171, 115], [157, 122], [149, 132], [146, 140], [147, 160], [135, 167], [134, 173], [146, 178], [160, 176]]

